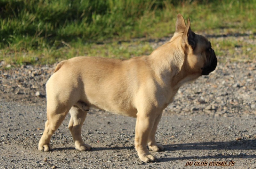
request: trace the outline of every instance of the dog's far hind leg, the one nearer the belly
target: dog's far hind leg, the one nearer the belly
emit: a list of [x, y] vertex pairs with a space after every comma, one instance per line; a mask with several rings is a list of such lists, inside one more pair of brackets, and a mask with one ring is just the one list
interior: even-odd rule
[[89, 109], [89, 107], [86, 107], [86, 109], [80, 109], [73, 106], [69, 111], [71, 117], [68, 124], [68, 128], [75, 142], [76, 150], [79, 151], [86, 151], [92, 148], [90, 145], [84, 143], [83, 138], [81, 136], [82, 125], [87, 115], [87, 109]]

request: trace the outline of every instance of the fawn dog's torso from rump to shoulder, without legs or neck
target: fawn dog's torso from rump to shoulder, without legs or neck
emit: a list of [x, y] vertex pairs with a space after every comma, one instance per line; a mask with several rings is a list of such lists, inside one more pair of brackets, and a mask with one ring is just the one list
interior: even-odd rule
[[133, 97], [139, 84], [146, 83], [145, 78], [148, 78], [148, 73], [143, 74], [146, 68], [141, 58], [122, 61], [75, 57], [64, 60], [56, 66], [46, 84], [47, 102], [58, 101], [64, 105], [80, 101], [91, 107], [135, 117]]

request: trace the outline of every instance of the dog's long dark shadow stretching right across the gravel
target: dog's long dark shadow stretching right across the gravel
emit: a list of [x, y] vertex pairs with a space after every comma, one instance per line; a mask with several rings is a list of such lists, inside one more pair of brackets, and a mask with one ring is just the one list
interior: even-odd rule
[[[66, 148], [55, 148], [53, 151], [61, 150], [75, 150], [73, 147]], [[134, 146], [124, 146], [124, 147], [93, 147], [91, 151], [103, 151], [103, 150], [134, 150]], [[185, 143], [185, 144], [167, 144], [164, 145], [164, 152], [173, 151], [190, 151], [190, 150], [256, 150], [256, 140], [241, 140], [241, 141], [221, 141], [221, 142], [200, 142], [200, 143]], [[134, 150], [135, 151], [135, 150]], [[208, 158], [255, 158], [254, 154], [238, 153], [234, 154], [217, 154], [214, 156], [183, 156], [183, 157], [162, 157], [158, 158], [159, 162], [167, 162], [173, 160], [189, 160], [189, 159], [208, 159]]]

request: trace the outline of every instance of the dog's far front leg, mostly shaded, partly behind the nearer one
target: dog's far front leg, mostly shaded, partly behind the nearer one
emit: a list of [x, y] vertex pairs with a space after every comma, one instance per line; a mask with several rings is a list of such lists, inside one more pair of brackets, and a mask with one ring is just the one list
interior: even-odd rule
[[161, 117], [162, 117], [162, 113], [156, 117], [154, 126], [149, 134], [149, 137], [148, 137], [148, 148], [149, 148], [149, 150], [152, 150], [152, 151], [163, 151], [164, 150], [164, 146], [157, 144], [156, 139], [155, 139], [157, 125], [158, 125]]

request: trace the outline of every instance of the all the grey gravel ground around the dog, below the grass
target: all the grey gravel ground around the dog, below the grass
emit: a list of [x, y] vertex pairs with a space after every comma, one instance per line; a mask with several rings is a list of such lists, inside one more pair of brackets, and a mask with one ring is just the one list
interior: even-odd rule
[[83, 127], [92, 151], [75, 150], [68, 117], [52, 137], [53, 151], [37, 150], [45, 83], [55, 66], [0, 69], [0, 168], [184, 168], [191, 161], [193, 168], [216, 161], [256, 168], [256, 61], [219, 63], [209, 76], [180, 88], [158, 126], [165, 150], [152, 152], [158, 161], [148, 164], [134, 150], [136, 119], [95, 109]]

